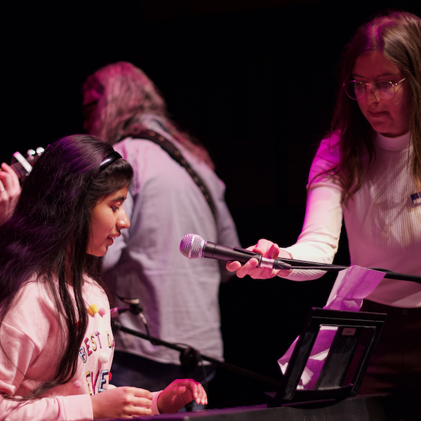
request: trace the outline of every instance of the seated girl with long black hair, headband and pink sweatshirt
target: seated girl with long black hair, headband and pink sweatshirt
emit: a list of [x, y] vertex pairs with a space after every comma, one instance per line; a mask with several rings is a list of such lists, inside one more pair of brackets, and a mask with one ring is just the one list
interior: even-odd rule
[[152, 394], [112, 387], [114, 338], [102, 256], [130, 222], [133, 168], [105, 142], [50, 145], [0, 227], [0, 418], [93, 420], [206, 402], [193, 380]]

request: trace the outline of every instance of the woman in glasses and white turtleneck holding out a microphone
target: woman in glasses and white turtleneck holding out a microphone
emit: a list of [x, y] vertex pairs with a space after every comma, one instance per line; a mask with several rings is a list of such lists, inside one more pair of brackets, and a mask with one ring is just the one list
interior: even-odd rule
[[[394, 12], [359, 28], [342, 63], [332, 131], [309, 173], [305, 222], [288, 248], [260, 240], [269, 258], [331, 263], [345, 220], [353, 265], [421, 275], [421, 20]], [[239, 277], [316, 279], [249, 260]], [[383, 280], [363, 309], [388, 314], [361, 394], [406, 389], [421, 396], [421, 284]], [[421, 413], [421, 411], [419, 412]], [[418, 414], [419, 414], [418, 413]]]

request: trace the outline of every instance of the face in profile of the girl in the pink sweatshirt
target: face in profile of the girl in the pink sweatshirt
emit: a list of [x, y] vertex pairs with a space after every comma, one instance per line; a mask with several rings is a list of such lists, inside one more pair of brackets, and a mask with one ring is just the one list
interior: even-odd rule
[[126, 211], [123, 209], [123, 201], [126, 200], [126, 197], [127, 187], [123, 187], [118, 192], [108, 194], [96, 203], [91, 215], [88, 254], [98, 258], [105, 255], [114, 239], [120, 236], [121, 229], [130, 227]]

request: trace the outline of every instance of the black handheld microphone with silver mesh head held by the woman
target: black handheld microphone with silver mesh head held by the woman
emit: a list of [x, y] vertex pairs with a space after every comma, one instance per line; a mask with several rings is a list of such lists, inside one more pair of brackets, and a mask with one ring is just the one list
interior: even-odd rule
[[260, 253], [254, 253], [244, 248], [234, 247], [229, 248], [220, 246], [220, 244], [205, 241], [197, 234], [187, 234], [182, 237], [180, 243], [180, 252], [186, 258], [209, 258], [224, 260], [229, 262], [231, 260], [238, 260], [241, 263], [246, 263], [250, 258], [255, 258], [259, 262], [260, 267], [269, 269], [292, 269], [289, 263], [283, 262], [281, 259], [264, 258]]

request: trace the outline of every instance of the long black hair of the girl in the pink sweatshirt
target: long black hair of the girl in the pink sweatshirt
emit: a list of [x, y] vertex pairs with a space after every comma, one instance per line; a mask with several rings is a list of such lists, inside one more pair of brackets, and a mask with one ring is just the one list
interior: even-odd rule
[[88, 324], [83, 274], [101, 283], [102, 258], [86, 253], [91, 213], [98, 199], [129, 185], [133, 178], [133, 168], [123, 159], [100, 171], [102, 160], [112, 152], [110, 145], [89, 135], [53, 142], [25, 180], [13, 215], [0, 227], [0, 322], [35, 275], [48, 283], [66, 323], [62, 330], [67, 345], [55, 376], [23, 399], [42, 396], [76, 372]]

